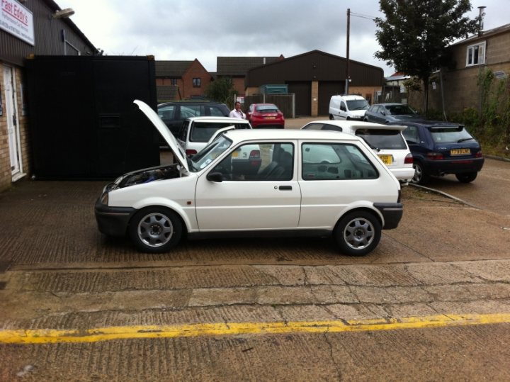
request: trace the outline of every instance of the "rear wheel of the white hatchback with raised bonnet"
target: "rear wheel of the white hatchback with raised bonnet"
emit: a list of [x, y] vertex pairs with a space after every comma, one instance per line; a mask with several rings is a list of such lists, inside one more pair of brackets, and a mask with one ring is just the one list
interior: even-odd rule
[[363, 256], [379, 244], [381, 225], [372, 213], [354, 211], [341, 218], [333, 235], [341, 252]]

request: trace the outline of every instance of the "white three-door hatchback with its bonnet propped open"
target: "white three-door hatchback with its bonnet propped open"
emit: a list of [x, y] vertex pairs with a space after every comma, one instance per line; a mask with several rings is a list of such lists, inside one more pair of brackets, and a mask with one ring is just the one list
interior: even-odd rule
[[[187, 158], [146, 103], [135, 103], [168, 140], [177, 163], [119, 176], [96, 201], [98, 229], [129, 234], [143, 252], [166, 252], [181, 238], [332, 235], [341, 252], [372, 251], [382, 229], [402, 218], [400, 185], [354, 135], [307, 130], [228, 130]], [[257, 145], [251, 174], [233, 159]], [[334, 158], [317, 161], [327, 150]], [[319, 155], [322, 157], [322, 155]]]

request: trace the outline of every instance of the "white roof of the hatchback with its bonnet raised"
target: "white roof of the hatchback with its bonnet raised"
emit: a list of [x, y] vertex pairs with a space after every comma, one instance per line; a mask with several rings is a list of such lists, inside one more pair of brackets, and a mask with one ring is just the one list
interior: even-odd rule
[[329, 130], [297, 130], [297, 129], [254, 129], [228, 130], [224, 133], [234, 142], [243, 140], [344, 140], [361, 141], [356, 135]]

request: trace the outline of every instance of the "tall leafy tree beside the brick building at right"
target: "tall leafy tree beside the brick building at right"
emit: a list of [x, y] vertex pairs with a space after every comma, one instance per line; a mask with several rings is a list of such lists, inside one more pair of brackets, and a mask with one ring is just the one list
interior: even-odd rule
[[470, 0], [380, 0], [385, 20], [375, 18], [375, 37], [382, 50], [375, 57], [424, 84], [425, 111], [429, 78], [441, 67], [446, 48], [458, 38], [479, 30], [479, 18], [463, 16]]

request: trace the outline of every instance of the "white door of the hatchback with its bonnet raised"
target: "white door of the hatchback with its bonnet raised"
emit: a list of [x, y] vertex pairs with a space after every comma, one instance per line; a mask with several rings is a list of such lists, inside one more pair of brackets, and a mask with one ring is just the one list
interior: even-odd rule
[[[295, 142], [264, 143], [259, 150], [254, 146], [249, 143], [248, 160], [239, 162], [235, 153], [245, 150], [237, 147], [199, 177], [195, 206], [200, 231], [297, 227], [301, 192]], [[222, 181], [208, 180], [212, 173], [222, 174]]]

